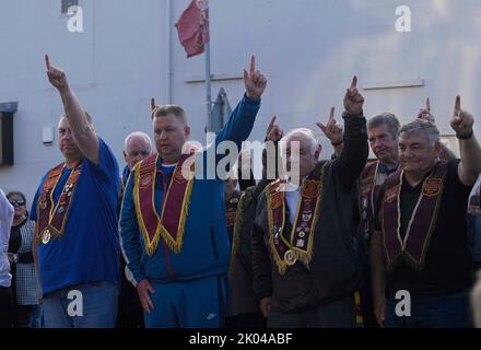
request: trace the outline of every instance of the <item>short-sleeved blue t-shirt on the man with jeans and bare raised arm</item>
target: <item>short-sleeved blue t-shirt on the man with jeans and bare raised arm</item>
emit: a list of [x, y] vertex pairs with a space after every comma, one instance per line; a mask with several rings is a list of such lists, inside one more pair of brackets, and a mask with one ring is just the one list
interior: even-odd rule
[[[84, 159], [61, 237], [38, 245], [38, 265], [44, 295], [62, 288], [108, 281], [119, 285], [118, 236], [119, 167], [108, 145], [99, 140], [98, 165]], [[72, 170], [64, 168], [54, 190], [57, 203]], [[42, 179], [32, 205], [36, 221]]]

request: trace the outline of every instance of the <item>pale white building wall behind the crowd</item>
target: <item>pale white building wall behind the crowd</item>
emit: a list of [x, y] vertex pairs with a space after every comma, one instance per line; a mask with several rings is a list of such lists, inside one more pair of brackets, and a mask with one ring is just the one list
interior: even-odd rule
[[[190, 0], [173, 0], [173, 24]], [[395, 31], [398, 5], [412, 11], [412, 32]], [[60, 0], [2, 0], [0, 3], [0, 103], [19, 102], [14, 117], [15, 165], [0, 168], [0, 187], [32, 198], [42, 175], [61, 161], [57, 139], [42, 144], [42, 127], [56, 126], [61, 112], [45, 78], [43, 56], [63, 67], [98, 133], [122, 164], [124, 137], [151, 132], [150, 97], [166, 103], [167, 0], [83, 0], [84, 33], [69, 33]], [[284, 129], [315, 128], [331, 105], [340, 118], [342, 97], [356, 73], [365, 114], [395, 113], [412, 119], [431, 96], [442, 133], [457, 93], [464, 107], [481, 114], [481, 4], [477, 0], [211, 0], [212, 82], [234, 107], [244, 88], [242, 69], [256, 54], [269, 79], [251, 139], [263, 139], [275, 114]], [[172, 30], [172, 102], [189, 115], [192, 138], [204, 141], [203, 56], [186, 59]], [[480, 136], [481, 122], [476, 125]], [[317, 130], [316, 130], [317, 132]], [[326, 139], [325, 156], [331, 152]]]

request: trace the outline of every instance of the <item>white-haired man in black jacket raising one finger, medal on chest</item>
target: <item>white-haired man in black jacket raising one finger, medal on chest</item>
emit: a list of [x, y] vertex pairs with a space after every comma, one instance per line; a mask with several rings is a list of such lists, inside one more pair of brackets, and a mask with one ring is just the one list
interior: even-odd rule
[[[262, 192], [253, 229], [254, 289], [269, 327], [354, 327], [355, 183], [367, 159], [364, 98], [354, 77], [344, 97], [342, 153], [318, 163], [313, 131], [288, 133], [286, 170]], [[294, 142], [297, 142], [296, 144]], [[298, 158], [292, 147], [298, 145]], [[282, 147], [282, 145], [281, 145]], [[295, 189], [291, 191], [289, 188]]]

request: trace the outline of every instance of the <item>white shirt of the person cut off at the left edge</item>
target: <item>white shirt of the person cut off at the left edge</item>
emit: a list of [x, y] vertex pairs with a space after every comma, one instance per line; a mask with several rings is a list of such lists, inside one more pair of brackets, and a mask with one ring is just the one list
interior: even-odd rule
[[10, 262], [8, 256], [10, 230], [13, 222], [13, 207], [0, 189], [0, 285], [10, 287]]

